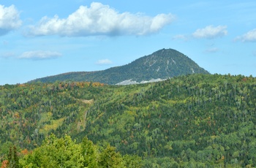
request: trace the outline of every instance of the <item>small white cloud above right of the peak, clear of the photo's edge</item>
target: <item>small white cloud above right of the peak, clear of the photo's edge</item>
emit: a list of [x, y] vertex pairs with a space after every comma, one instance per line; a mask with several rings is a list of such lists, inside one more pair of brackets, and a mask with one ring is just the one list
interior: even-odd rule
[[199, 28], [192, 34], [195, 38], [214, 39], [217, 37], [223, 37], [227, 35], [227, 26], [206, 26], [205, 28]]

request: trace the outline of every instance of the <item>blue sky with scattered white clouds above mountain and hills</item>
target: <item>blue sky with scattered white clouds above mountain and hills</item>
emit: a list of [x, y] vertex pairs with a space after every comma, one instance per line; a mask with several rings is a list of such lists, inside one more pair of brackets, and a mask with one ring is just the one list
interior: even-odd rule
[[255, 1], [0, 0], [0, 85], [129, 64], [173, 48], [256, 76]]

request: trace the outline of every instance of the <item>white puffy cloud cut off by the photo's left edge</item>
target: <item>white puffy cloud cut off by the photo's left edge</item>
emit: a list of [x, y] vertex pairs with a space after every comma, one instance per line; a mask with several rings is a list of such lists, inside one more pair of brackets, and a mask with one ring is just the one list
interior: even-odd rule
[[21, 26], [20, 14], [14, 5], [0, 5], [0, 36]]

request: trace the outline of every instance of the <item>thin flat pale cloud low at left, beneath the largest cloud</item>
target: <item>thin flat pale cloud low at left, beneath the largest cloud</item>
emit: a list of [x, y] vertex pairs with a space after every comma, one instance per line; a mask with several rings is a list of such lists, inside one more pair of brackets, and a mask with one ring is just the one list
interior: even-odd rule
[[57, 58], [60, 56], [61, 56], [61, 53], [54, 52], [54, 51], [35, 50], [35, 51], [24, 52], [18, 58], [39, 60], [39, 59]]

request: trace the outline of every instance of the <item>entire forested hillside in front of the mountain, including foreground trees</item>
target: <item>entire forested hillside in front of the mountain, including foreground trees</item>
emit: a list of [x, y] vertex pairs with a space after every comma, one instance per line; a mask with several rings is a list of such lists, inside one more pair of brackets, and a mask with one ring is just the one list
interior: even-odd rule
[[256, 167], [255, 123], [252, 76], [1, 85], [0, 166]]

